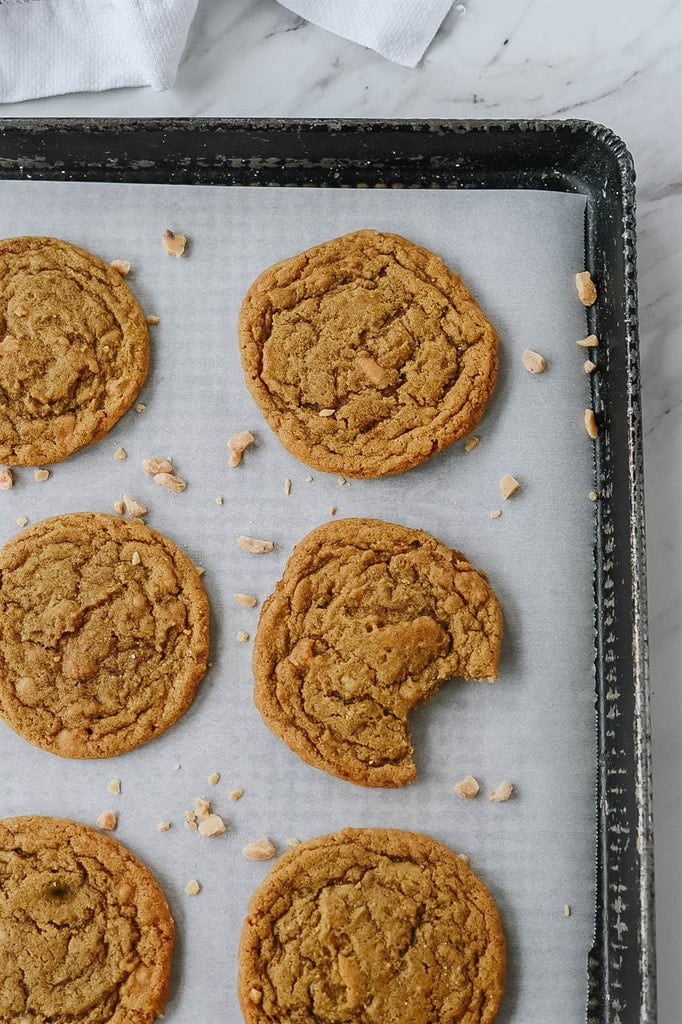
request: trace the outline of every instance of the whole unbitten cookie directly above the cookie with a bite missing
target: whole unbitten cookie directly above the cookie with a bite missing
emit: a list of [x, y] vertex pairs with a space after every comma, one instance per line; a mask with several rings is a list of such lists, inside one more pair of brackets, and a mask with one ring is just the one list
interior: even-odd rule
[[401, 473], [468, 434], [498, 373], [495, 328], [460, 278], [373, 230], [261, 273], [239, 336], [247, 386], [285, 447], [344, 476]]

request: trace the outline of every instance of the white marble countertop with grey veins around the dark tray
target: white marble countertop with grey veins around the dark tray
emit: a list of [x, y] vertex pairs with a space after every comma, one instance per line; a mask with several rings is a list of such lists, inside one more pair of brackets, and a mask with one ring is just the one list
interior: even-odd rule
[[0, 106], [1, 117], [579, 117], [626, 140], [638, 179], [660, 1024], [679, 1024], [682, 1007], [681, 23], [679, 0], [469, 0], [411, 71], [274, 0], [200, 0], [168, 92]]

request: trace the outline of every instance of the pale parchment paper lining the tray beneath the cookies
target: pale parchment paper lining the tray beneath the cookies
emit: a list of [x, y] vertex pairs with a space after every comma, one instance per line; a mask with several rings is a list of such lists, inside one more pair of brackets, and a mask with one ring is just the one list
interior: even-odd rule
[[[429, 833], [470, 856], [495, 895], [509, 946], [501, 1024], [585, 1019], [586, 961], [594, 927], [595, 765], [592, 593], [592, 445], [586, 333], [573, 274], [584, 263], [583, 197], [519, 191], [219, 188], [1, 182], [0, 229], [54, 234], [104, 259], [129, 259], [128, 279], [152, 328], [154, 357], [139, 401], [98, 444], [52, 468], [31, 469], [0, 495], [0, 541], [60, 512], [112, 511], [133, 495], [147, 521], [206, 568], [212, 666], [190, 711], [136, 752], [103, 762], [60, 760], [0, 722], [0, 814], [40, 813], [93, 823], [112, 808], [116, 838], [163, 885], [178, 926], [171, 1024], [236, 1024], [236, 950], [248, 898], [268, 864], [242, 847], [269, 836], [279, 850], [344, 825]], [[346, 481], [309, 470], [282, 449], [242, 379], [236, 321], [251, 281], [269, 263], [319, 241], [373, 226], [433, 249], [460, 272], [502, 342], [497, 392], [477, 429], [425, 465], [384, 480]], [[166, 227], [190, 239], [186, 257], [161, 247]], [[524, 348], [548, 371], [531, 377]], [[257, 446], [227, 467], [227, 437], [251, 429]], [[114, 461], [123, 446], [125, 462]], [[140, 459], [170, 455], [188, 481], [157, 487]], [[508, 502], [498, 481], [521, 490]], [[308, 477], [312, 477], [308, 480]], [[285, 479], [291, 494], [285, 494]], [[223, 504], [216, 503], [221, 497]], [[293, 544], [329, 518], [373, 515], [420, 526], [463, 550], [500, 597], [506, 636], [499, 681], [445, 684], [413, 714], [419, 778], [400, 791], [355, 787], [304, 765], [262, 724], [251, 700], [251, 643], [258, 608]], [[499, 519], [489, 512], [502, 509]], [[273, 540], [254, 556], [239, 534]], [[177, 767], [177, 766], [180, 767]], [[217, 785], [207, 776], [221, 774]], [[481, 795], [453, 783], [471, 773]], [[119, 797], [109, 779], [122, 780]], [[515, 785], [508, 804], [486, 793]], [[227, 794], [244, 790], [237, 803]], [[227, 834], [183, 827], [195, 797], [209, 797]], [[173, 822], [160, 834], [157, 823]], [[191, 879], [202, 884], [187, 897]], [[571, 908], [564, 916], [564, 904]]]

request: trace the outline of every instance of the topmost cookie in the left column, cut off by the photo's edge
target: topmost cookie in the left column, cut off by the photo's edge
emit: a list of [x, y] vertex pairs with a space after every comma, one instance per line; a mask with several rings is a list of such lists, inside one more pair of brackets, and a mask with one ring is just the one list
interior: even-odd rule
[[59, 239], [0, 240], [0, 463], [99, 440], [146, 377], [148, 329], [121, 274]]

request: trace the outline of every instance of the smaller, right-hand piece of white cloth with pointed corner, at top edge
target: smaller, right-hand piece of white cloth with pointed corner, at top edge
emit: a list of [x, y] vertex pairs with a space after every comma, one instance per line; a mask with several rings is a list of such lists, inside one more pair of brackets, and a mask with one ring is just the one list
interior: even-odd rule
[[453, 0], [280, 0], [295, 14], [369, 46], [382, 57], [415, 68]]

